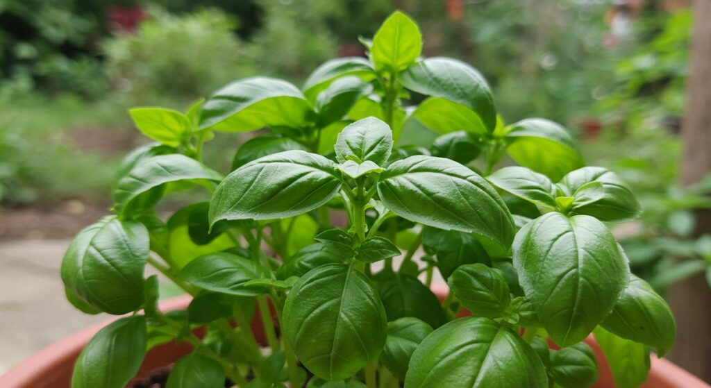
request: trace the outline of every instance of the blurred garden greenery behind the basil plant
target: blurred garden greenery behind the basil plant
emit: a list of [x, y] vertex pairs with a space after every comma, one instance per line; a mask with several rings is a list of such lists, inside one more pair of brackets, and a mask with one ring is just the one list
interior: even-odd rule
[[[689, 3], [4, 0], [0, 240], [70, 237], [106, 212], [122, 156], [144, 142], [129, 107], [183, 110], [256, 74], [300, 85], [324, 60], [364, 55], [358, 36], [402, 9], [420, 23], [425, 55], [461, 58], [486, 76], [506, 122], [560, 122], [588, 164], [630, 183], [646, 212], [616, 232], [634, 271], [663, 291], [711, 261], [711, 237], [692, 237], [711, 179], [675, 185]], [[227, 168], [239, 144], [213, 141], [208, 161]]]

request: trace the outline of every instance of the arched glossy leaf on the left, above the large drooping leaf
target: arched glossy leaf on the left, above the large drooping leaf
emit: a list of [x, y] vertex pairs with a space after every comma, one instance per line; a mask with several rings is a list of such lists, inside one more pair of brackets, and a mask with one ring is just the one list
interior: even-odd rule
[[165, 183], [189, 181], [207, 185], [211, 182], [219, 182], [222, 178], [222, 174], [187, 156], [178, 154], [153, 156], [142, 161], [127, 176], [119, 180], [112, 195], [114, 210], [119, 214], [142, 210], [139, 206], [132, 206], [132, 202], [144, 196], [142, 194], [150, 195], [151, 190]]

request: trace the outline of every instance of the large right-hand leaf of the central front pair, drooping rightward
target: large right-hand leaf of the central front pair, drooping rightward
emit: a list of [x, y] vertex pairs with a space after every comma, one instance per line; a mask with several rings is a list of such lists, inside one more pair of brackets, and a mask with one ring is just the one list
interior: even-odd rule
[[444, 230], [474, 233], [508, 250], [513, 219], [496, 190], [455, 161], [410, 156], [380, 174], [378, 195], [393, 212]]

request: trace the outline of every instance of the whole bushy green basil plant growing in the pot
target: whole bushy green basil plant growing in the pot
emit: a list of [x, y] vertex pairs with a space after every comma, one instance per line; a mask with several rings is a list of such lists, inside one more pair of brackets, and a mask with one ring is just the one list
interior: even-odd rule
[[[646, 379], [675, 323], [606, 224], [641, 211], [627, 185], [584, 167], [559, 124], [505, 124], [477, 70], [422, 57], [405, 14], [361, 41], [368, 59], [329, 60], [301, 88], [252, 77], [186, 113], [131, 110], [156, 143], [127, 156], [113, 215], [61, 268], [74, 306], [122, 316], [73, 387], [125, 387], [169, 342], [193, 351], [168, 387], [588, 387], [591, 333], [619, 387]], [[439, 137], [399, 147], [412, 125]], [[215, 131], [262, 129], [226, 176], [201, 161]], [[497, 170], [505, 155], [518, 166]], [[209, 203], [159, 217], [191, 187]], [[146, 264], [186, 310], [159, 309]]]

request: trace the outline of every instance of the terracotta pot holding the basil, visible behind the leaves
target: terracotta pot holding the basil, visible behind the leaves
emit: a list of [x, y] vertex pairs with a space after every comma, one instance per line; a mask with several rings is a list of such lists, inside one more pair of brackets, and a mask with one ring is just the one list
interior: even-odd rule
[[[433, 287], [435, 293], [440, 298], [447, 294], [446, 286]], [[178, 308], [186, 308], [190, 303], [190, 296], [178, 296], [161, 302], [161, 311], [171, 311]], [[79, 356], [82, 348], [105, 323], [91, 326], [85, 330], [70, 335], [60, 340], [58, 343], [50, 345], [32, 357], [28, 358], [20, 365], [14, 367], [0, 377], [0, 387], [2, 388], [69, 388], [74, 362]], [[252, 322], [252, 330], [257, 338], [263, 336], [261, 322], [258, 318]], [[600, 367], [600, 378], [595, 387], [614, 387], [612, 376], [607, 367], [607, 363], [600, 352], [599, 347], [590, 341], [597, 355]], [[151, 349], [144, 360], [138, 377], [145, 377], [151, 370], [164, 367], [178, 360], [179, 357], [191, 351], [189, 345], [175, 345], [168, 343]], [[711, 388], [700, 379], [697, 379], [689, 372], [677, 367], [666, 360], [660, 360], [652, 356], [651, 370], [648, 381], [643, 384], [645, 388]]]

